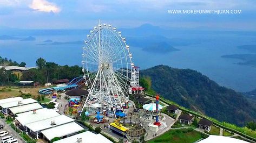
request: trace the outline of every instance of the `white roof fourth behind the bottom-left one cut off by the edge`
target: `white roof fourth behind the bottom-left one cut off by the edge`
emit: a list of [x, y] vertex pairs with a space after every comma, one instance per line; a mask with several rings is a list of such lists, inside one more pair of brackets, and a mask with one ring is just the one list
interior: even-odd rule
[[16, 106], [13, 108], [9, 108], [12, 113], [17, 114], [17, 113], [23, 113], [23, 112], [28, 112], [32, 111], [35, 109], [41, 109], [43, 106], [41, 106], [38, 103], [32, 103], [32, 104], [27, 104], [27, 105], [22, 105], [22, 106]]

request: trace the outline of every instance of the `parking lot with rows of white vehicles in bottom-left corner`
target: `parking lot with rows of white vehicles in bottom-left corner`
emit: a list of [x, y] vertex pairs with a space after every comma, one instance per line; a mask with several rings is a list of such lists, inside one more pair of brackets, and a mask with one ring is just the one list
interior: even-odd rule
[[[12, 137], [14, 137], [14, 139], [18, 139], [18, 142], [25, 142], [14, 129], [12, 129], [8, 124], [5, 123], [4, 119], [0, 119], [0, 125], [3, 125], [3, 128], [0, 130], [0, 132], [6, 131], [8, 132], [8, 135], [11, 135]], [[4, 137], [7, 137], [8, 135], [5, 135]], [[0, 137], [0, 140], [2, 140], [2, 138], [4, 137]]]

